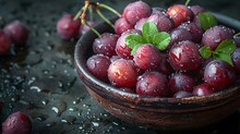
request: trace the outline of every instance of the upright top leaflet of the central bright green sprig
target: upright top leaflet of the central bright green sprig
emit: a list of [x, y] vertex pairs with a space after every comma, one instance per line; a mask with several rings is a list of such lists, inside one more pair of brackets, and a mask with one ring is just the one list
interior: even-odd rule
[[153, 44], [154, 35], [158, 33], [157, 26], [152, 22], [146, 22], [143, 25], [143, 38], [147, 44]]

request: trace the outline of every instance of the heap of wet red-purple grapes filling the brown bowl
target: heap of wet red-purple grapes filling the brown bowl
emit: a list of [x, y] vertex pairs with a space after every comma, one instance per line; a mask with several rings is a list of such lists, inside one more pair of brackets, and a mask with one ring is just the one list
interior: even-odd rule
[[[140, 96], [206, 96], [240, 84], [239, 36], [221, 24], [204, 29], [199, 15], [205, 12], [200, 5], [175, 4], [164, 10], [143, 1], [129, 3], [115, 23], [116, 33], [94, 40], [86, 68], [98, 80]], [[166, 50], [143, 44], [132, 54], [125, 38], [142, 35], [146, 22], [168, 33], [171, 40]], [[229, 56], [232, 64], [202, 57], [202, 47], [214, 51], [226, 40], [236, 46]]]

